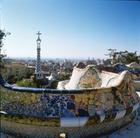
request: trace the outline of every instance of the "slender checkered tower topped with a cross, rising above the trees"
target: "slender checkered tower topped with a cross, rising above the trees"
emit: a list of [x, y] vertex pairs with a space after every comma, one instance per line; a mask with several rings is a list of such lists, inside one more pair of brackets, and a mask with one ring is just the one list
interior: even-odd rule
[[36, 79], [42, 79], [43, 74], [42, 74], [41, 63], [40, 63], [40, 50], [41, 50], [41, 48], [40, 48], [40, 44], [41, 44], [40, 35], [41, 35], [41, 33], [38, 32], [37, 35], [38, 35], [38, 38], [36, 40], [36, 43], [37, 43], [37, 61], [36, 61], [35, 75], [36, 75]]

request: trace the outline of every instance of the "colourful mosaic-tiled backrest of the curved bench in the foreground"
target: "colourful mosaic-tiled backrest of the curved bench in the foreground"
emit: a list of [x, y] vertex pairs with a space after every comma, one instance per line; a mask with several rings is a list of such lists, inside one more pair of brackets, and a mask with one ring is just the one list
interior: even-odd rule
[[1, 88], [0, 110], [37, 117], [90, 117], [108, 112], [116, 114], [138, 103], [129, 76], [126, 77], [127, 80], [118, 88], [96, 89], [79, 94], [36, 94]]

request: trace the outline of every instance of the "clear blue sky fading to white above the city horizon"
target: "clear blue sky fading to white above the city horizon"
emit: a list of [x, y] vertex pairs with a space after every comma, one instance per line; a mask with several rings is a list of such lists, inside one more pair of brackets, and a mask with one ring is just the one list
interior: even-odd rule
[[0, 0], [8, 57], [105, 58], [107, 49], [140, 54], [140, 1]]

